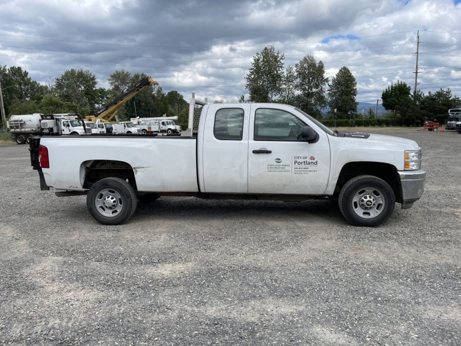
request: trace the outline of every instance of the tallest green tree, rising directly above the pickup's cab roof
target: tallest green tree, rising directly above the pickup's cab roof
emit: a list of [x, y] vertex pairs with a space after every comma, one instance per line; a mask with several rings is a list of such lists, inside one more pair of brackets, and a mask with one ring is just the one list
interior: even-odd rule
[[265, 47], [253, 57], [246, 75], [246, 89], [250, 93], [250, 102], [272, 102], [282, 91], [284, 77], [284, 54], [275, 48]]

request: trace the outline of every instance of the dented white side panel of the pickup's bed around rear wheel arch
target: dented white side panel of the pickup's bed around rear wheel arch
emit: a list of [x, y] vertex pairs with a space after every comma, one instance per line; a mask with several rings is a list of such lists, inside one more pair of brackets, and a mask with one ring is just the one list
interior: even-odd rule
[[83, 190], [84, 162], [123, 161], [133, 167], [138, 191], [197, 192], [196, 139], [42, 137], [50, 168], [48, 186]]

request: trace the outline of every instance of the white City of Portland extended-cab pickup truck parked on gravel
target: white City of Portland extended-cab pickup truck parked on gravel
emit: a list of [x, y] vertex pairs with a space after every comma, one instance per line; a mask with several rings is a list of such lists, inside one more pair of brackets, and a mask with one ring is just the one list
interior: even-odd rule
[[33, 137], [30, 152], [42, 190], [87, 195], [89, 213], [106, 225], [130, 218], [138, 199], [194, 196], [335, 199], [353, 225], [377, 226], [396, 202], [411, 208], [426, 180], [414, 141], [331, 131], [277, 103], [193, 99], [181, 135]]

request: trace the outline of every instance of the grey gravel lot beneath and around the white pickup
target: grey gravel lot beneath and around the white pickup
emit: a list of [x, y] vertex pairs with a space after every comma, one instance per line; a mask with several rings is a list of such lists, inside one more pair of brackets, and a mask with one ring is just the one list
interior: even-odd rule
[[162, 197], [102, 226], [0, 146], [0, 345], [461, 345], [461, 135], [376, 228], [337, 204]]

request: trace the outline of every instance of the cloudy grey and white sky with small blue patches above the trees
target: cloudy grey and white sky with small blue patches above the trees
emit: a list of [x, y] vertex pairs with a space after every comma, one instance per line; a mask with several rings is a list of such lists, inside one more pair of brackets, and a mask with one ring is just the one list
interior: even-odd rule
[[358, 101], [398, 79], [461, 95], [461, 0], [0, 0], [0, 65], [45, 83], [70, 68], [145, 72], [186, 100], [236, 101], [252, 56], [274, 45], [285, 66], [304, 54], [332, 77], [348, 66]]

